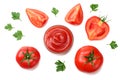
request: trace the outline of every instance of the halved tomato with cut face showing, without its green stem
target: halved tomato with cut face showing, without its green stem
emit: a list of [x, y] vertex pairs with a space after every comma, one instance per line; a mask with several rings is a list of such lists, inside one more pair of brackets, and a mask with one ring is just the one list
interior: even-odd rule
[[110, 28], [99, 17], [92, 16], [87, 20], [85, 30], [89, 40], [101, 40], [108, 35]]

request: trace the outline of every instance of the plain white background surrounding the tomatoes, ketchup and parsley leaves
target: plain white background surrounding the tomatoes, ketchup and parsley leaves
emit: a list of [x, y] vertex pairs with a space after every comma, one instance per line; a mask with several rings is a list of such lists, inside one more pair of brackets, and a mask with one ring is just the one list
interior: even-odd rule
[[[120, 12], [119, 0], [0, 0], [0, 79], [1, 80], [120, 80], [120, 47], [112, 50], [109, 44], [115, 40], [120, 46]], [[67, 12], [80, 3], [84, 12], [81, 25], [73, 26], [65, 22]], [[97, 12], [90, 13], [90, 4], [99, 4]], [[55, 17], [51, 9], [56, 7], [59, 13]], [[25, 13], [26, 8], [34, 8], [45, 12], [49, 16], [43, 28], [34, 27]], [[14, 21], [11, 12], [20, 12], [21, 21]], [[110, 32], [103, 40], [90, 41], [85, 32], [86, 20], [93, 16], [108, 16]], [[7, 31], [4, 26], [11, 23], [12, 31]], [[52, 25], [61, 24], [68, 27], [74, 35], [74, 43], [66, 55], [55, 55], [49, 52], [43, 43], [45, 31]], [[22, 30], [24, 37], [17, 41], [12, 35], [17, 30]], [[83, 73], [74, 64], [76, 51], [84, 46], [97, 47], [104, 57], [101, 69], [95, 73]], [[41, 59], [35, 69], [21, 68], [15, 56], [22, 46], [33, 46], [40, 52]], [[66, 70], [56, 72], [56, 60], [65, 61]]]

